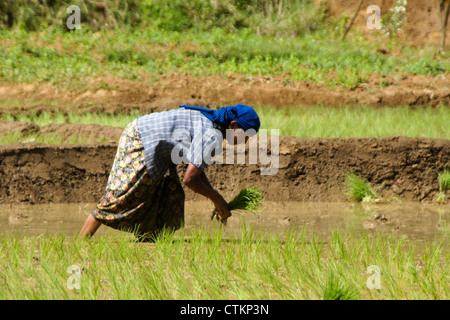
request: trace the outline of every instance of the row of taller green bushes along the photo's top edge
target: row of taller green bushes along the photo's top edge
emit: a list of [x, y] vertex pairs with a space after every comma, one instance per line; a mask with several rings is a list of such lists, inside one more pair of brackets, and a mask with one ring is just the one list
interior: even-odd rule
[[65, 28], [67, 8], [77, 5], [82, 25], [156, 27], [167, 31], [248, 28], [261, 35], [298, 36], [315, 31], [323, 14], [310, 0], [0, 0], [0, 29]]

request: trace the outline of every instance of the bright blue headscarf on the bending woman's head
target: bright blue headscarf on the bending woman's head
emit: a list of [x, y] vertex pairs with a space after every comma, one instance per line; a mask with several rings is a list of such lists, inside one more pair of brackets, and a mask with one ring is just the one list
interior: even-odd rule
[[245, 131], [247, 131], [248, 129], [254, 129], [256, 132], [258, 132], [259, 127], [261, 126], [261, 122], [259, 121], [259, 117], [256, 111], [252, 107], [243, 104], [223, 107], [219, 110], [209, 110], [206, 108], [188, 105], [182, 105], [180, 106], [180, 108], [200, 111], [212, 122], [226, 127], [229, 126], [231, 121], [233, 120], [235, 120]]

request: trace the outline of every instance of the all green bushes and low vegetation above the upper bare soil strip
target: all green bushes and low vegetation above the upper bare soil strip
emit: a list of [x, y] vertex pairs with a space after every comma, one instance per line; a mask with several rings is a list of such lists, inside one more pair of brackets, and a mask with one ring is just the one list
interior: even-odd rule
[[[69, 32], [70, 4], [80, 7], [82, 28]], [[231, 73], [355, 88], [373, 74], [450, 69], [434, 47], [405, 47], [382, 34], [369, 42], [356, 31], [342, 41], [346, 19], [325, 12], [309, 0], [0, 0], [0, 79], [76, 90], [102, 74], [157, 81]]]

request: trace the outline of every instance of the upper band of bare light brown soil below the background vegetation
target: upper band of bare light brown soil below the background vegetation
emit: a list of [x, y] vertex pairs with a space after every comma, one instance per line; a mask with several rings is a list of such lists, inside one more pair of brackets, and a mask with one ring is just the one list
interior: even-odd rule
[[[373, 75], [366, 83], [352, 90], [309, 82], [286, 83], [281, 76], [248, 78], [236, 75], [167, 75], [161, 76], [160, 80], [153, 84], [105, 76], [95, 80], [90, 87], [95, 88], [95, 84], [100, 82], [107, 82], [113, 89], [71, 92], [58, 90], [50, 84], [0, 82], [2, 100], [19, 100], [24, 103], [22, 107], [0, 106], [0, 113], [39, 113], [55, 110], [115, 113], [127, 112], [130, 109], [150, 112], [177, 107], [180, 104], [212, 107], [238, 103], [276, 107], [314, 104], [374, 107], [450, 104], [450, 77], [447, 74], [437, 77]], [[380, 87], [380, 83], [383, 83], [383, 86]], [[36, 101], [46, 103], [36, 105]]]

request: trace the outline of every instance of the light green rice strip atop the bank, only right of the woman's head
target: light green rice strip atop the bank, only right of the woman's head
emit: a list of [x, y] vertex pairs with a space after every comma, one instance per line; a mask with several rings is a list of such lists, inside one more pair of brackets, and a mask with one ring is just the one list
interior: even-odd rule
[[[262, 129], [280, 129], [281, 136], [350, 138], [390, 136], [450, 139], [450, 107], [292, 106], [255, 107]], [[359, 125], [355, 125], [355, 124]]]

